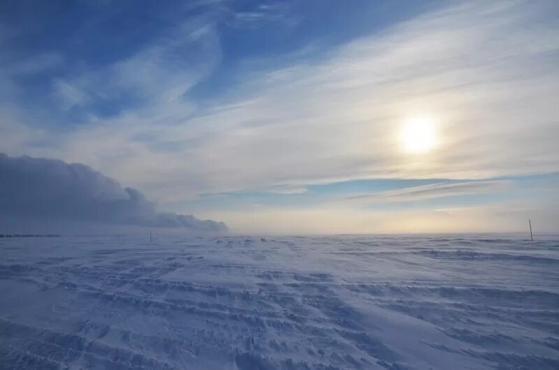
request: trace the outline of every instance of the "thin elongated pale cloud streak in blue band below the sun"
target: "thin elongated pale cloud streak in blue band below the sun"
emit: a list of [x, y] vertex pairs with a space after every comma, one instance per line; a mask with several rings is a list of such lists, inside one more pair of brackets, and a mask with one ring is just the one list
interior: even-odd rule
[[506, 180], [460, 182], [453, 184], [429, 184], [413, 186], [372, 194], [353, 195], [344, 200], [366, 200], [369, 202], [407, 202], [460, 195], [472, 195], [505, 191], [509, 185]]

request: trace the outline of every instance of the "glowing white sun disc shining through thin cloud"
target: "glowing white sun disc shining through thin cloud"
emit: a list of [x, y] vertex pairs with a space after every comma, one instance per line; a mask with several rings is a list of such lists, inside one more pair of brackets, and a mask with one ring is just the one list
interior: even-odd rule
[[400, 128], [400, 144], [410, 154], [422, 154], [437, 144], [435, 122], [426, 117], [408, 119]]

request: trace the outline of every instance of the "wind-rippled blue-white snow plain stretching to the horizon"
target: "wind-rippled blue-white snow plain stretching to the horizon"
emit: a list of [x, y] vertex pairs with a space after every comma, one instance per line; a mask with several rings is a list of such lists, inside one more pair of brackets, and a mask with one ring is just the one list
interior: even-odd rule
[[0, 369], [559, 369], [559, 237], [0, 239]]

